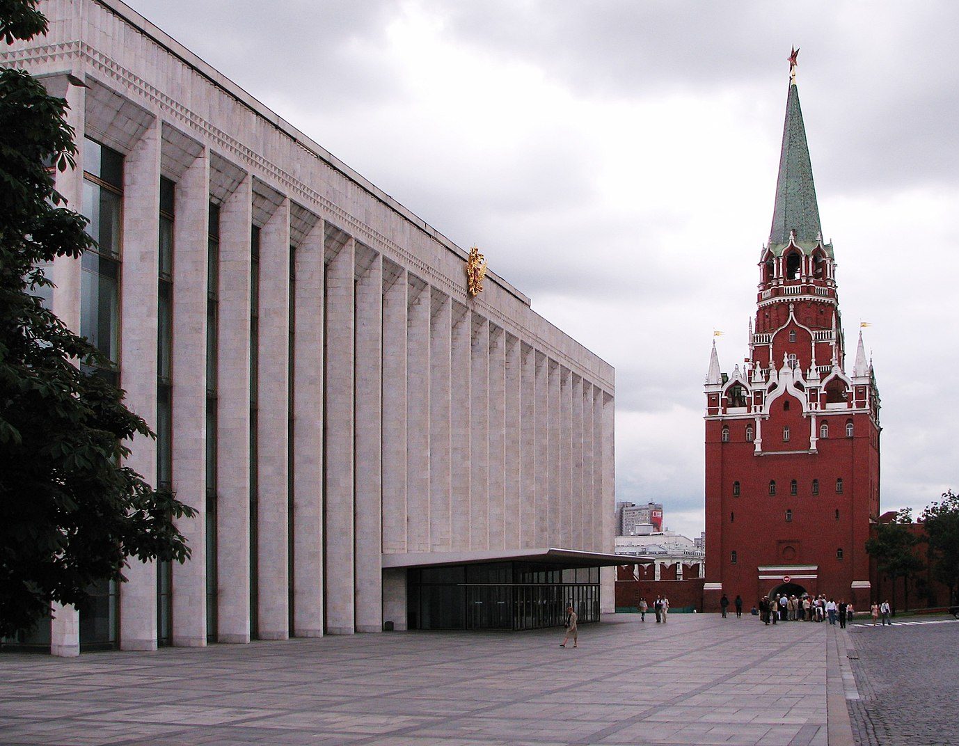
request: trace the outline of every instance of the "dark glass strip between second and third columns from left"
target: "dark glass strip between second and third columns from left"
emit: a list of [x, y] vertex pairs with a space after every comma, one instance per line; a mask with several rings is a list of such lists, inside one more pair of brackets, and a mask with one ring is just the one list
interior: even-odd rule
[[[173, 489], [174, 182], [160, 177], [156, 335], [156, 486]], [[156, 563], [156, 643], [173, 641], [173, 566]]]

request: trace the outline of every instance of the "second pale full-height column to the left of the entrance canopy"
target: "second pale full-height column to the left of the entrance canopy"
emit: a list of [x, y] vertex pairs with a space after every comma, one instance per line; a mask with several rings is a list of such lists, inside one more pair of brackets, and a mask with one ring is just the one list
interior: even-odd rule
[[354, 505], [354, 277], [356, 246], [348, 239], [326, 266], [326, 631], [352, 635]]

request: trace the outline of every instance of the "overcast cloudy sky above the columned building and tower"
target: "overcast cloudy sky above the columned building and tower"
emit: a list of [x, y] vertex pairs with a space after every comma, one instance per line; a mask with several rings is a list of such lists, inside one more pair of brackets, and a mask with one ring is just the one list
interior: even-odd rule
[[[132, 0], [616, 366], [619, 500], [704, 526], [713, 329], [748, 354], [788, 84], [883, 510], [959, 488], [959, 3]], [[854, 346], [847, 370], [854, 362]], [[610, 506], [612, 509], [612, 505]]]

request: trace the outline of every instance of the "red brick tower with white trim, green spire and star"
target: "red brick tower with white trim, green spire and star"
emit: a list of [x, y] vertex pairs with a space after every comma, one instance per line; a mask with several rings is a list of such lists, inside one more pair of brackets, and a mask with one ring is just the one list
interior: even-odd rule
[[706, 378], [705, 607], [720, 595], [870, 598], [879, 505], [879, 395], [859, 334], [852, 374], [832, 245], [823, 240], [790, 64], [783, 151], [760, 255], [749, 358]]

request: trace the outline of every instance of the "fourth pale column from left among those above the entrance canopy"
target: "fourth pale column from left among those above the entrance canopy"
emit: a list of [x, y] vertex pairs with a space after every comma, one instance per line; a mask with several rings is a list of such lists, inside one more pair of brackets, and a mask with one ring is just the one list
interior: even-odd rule
[[456, 303], [451, 312], [452, 368], [450, 372], [450, 432], [451, 452], [450, 478], [452, 537], [451, 548], [470, 548], [470, 478], [472, 474], [470, 453], [470, 402], [472, 378], [472, 314], [468, 308]]

